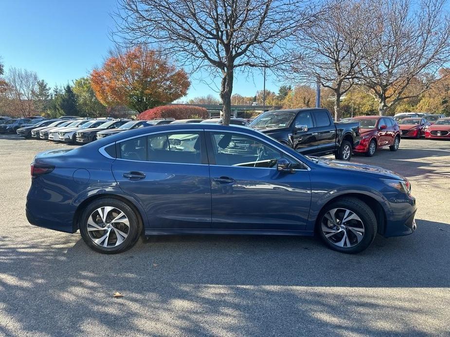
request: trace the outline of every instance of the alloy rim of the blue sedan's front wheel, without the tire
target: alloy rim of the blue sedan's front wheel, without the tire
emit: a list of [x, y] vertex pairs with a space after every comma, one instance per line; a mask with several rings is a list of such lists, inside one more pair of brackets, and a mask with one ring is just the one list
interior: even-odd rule
[[350, 248], [359, 244], [364, 237], [364, 224], [360, 217], [345, 208], [333, 208], [322, 218], [321, 230], [332, 244]]

